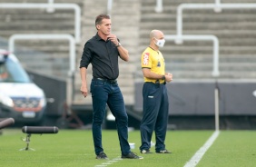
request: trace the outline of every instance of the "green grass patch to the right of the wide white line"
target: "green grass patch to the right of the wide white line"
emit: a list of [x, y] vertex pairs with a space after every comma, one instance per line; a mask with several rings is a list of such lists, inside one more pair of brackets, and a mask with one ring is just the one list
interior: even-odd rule
[[198, 167], [256, 165], [256, 132], [223, 131], [205, 153]]

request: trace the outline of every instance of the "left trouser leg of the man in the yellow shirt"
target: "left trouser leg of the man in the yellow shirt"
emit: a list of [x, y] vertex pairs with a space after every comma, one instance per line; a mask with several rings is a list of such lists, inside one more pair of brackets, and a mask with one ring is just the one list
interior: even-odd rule
[[159, 112], [160, 103], [159, 87], [154, 83], [143, 84], [143, 120], [141, 123], [141, 140], [142, 145], [140, 150], [149, 150], [151, 148], [151, 140], [156, 122], [156, 117]]

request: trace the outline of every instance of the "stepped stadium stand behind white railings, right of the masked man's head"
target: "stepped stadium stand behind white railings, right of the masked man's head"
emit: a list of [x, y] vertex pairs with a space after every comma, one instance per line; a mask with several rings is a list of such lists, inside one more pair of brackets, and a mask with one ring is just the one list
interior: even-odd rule
[[[206, 0], [163, 1], [162, 13], [155, 13], [155, 1], [142, 1], [140, 26], [141, 47], [153, 29], [165, 34], [176, 34], [176, 9], [182, 3], [213, 3]], [[255, 3], [252, 0], [222, 3]], [[220, 41], [221, 78], [255, 78], [255, 20], [256, 9], [227, 9], [222, 13], [213, 10], [184, 10], [183, 34], [214, 34]], [[167, 42], [162, 49], [168, 70], [176, 78], [212, 78], [212, 43], [184, 42], [182, 45]], [[141, 49], [141, 50], [142, 50]]]

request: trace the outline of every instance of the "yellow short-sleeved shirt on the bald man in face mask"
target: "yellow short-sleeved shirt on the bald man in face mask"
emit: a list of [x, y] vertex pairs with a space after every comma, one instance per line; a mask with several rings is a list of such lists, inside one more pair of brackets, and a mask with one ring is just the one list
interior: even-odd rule
[[[165, 63], [160, 51], [155, 51], [151, 47], [147, 47], [142, 54], [142, 68], [150, 68], [154, 74], [165, 74]], [[144, 82], [155, 83], [155, 79], [144, 77]], [[164, 83], [164, 80], [159, 80]]]

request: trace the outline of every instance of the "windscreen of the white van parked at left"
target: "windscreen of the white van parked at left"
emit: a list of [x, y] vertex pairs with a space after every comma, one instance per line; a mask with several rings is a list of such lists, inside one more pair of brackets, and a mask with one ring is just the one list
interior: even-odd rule
[[5, 62], [0, 62], [0, 82], [1, 83], [31, 83], [28, 74], [25, 70], [12, 59], [5, 59]]

